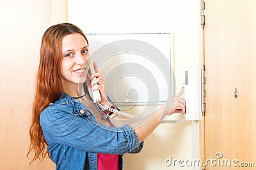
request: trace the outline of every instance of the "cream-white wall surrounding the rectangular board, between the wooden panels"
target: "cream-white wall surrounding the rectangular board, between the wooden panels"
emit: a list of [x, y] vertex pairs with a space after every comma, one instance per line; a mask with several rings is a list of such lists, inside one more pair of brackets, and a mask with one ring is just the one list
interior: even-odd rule
[[[185, 66], [200, 66], [200, 1], [68, 1], [68, 22], [86, 33], [173, 32], [177, 90]], [[132, 108], [132, 111], [139, 108]], [[173, 115], [173, 118], [180, 118]], [[182, 117], [181, 117], [182, 118]], [[138, 155], [124, 156], [124, 169], [179, 169], [164, 160], [199, 158], [198, 122], [163, 124]], [[180, 168], [180, 169], [184, 169]], [[186, 168], [186, 169], [189, 169]], [[195, 168], [196, 169], [196, 168]]]

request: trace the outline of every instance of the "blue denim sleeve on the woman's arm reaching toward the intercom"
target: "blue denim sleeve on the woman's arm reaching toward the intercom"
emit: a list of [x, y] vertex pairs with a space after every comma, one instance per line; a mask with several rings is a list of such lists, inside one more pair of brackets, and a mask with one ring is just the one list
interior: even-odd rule
[[140, 150], [140, 141], [127, 124], [109, 127], [81, 118], [68, 111], [48, 107], [40, 115], [47, 143], [59, 143], [86, 152], [124, 154]]

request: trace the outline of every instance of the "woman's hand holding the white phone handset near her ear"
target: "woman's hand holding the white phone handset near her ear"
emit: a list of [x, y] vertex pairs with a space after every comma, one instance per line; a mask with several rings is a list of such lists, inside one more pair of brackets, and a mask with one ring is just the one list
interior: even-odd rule
[[90, 85], [92, 87], [92, 92], [95, 90], [100, 91], [100, 97], [101, 97], [101, 102], [100, 104], [102, 105], [109, 105], [108, 98], [106, 95], [106, 85], [104, 83], [104, 78], [101, 73], [99, 73], [99, 69], [95, 62], [93, 62], [93, 67], [95, 70], [95, 74], [90, 75]]

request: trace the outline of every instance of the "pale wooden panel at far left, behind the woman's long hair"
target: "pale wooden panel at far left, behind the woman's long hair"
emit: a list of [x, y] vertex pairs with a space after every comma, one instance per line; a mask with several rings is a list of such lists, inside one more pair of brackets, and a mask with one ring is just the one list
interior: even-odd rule
[[40, 43], [49, 27], [49, 1], [1, 1], [0, 23], [0, 169], [54, 169], [49, 159], [29, 166], [26, 157]]

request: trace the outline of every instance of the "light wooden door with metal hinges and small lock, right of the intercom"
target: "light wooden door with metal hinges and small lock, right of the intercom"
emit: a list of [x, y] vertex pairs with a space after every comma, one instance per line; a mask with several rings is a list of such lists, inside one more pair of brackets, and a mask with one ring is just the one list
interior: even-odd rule
[[207, 170], [256, 167], [255, 8], [255, 0], [205, 0], [204, 156], [216, 159]]

